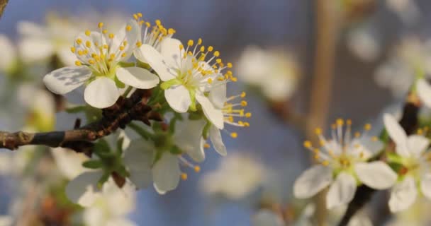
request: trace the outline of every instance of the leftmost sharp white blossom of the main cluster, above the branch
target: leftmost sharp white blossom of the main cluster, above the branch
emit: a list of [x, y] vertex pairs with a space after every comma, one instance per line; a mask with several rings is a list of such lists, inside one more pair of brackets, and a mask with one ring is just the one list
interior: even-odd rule
[[[72, 52], [76, 66], [67, 66], [48, 73], [43, 82], [52, 93], [64, 95], [86, 84], [84, 100], [91, 106], [105, 108], [113, 105], [121, 95], [116, 79], [134, 88], [153, 88], [159, 78], [137, 66], [121, 67], [133, 54], [140, 26], [130, 20], [114, 35], [103, 30], [86, 30], [77, 36]], [[123, 88], [123, 87], [121, 87]]]

